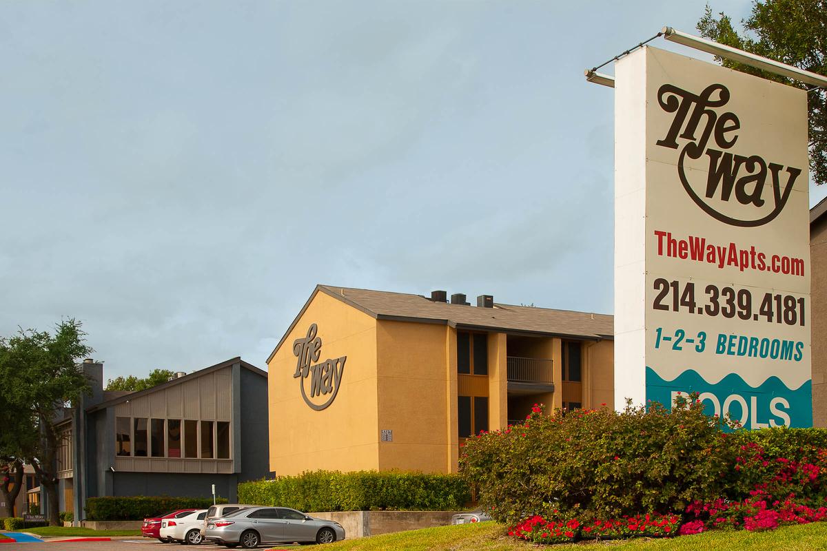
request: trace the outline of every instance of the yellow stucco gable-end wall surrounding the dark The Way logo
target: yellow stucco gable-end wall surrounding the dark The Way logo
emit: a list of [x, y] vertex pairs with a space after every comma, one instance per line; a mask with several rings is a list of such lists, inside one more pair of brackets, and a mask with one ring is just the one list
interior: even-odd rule
[[[293, 377], [294, 340], [313, 323], [322, 339], [319, 361], [347, 356], [342, 387], [322, 411], [304, 402]], [[286, 475], [380, 468], [375, 319], [318, 292], [268, 367], [271, 470]]]

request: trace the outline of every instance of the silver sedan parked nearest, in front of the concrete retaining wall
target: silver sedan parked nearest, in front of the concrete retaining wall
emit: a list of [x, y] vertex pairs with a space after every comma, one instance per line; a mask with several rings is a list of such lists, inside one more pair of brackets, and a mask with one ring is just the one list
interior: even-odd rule
[[334, 520], [317, 519], [287, 507], [250, 507], [209, 520], [204, 539], [226, 547], [241, 544], [330, 544], [345, 539], [345, 529]]

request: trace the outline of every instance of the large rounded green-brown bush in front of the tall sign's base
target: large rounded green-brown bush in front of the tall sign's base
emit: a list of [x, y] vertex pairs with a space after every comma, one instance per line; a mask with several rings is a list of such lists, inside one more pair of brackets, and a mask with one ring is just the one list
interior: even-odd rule
[[480, 505], [508, 525], [551, 518], [554, 509], [602, 519], [683, 511], [720, 496], [720, 465], [731, 463], [723, 421], [705, 416], [700, 402], [684, 405], [565, 416], [544, 415], [538, 405], [521, 425], [468, 439], [460, 470]]

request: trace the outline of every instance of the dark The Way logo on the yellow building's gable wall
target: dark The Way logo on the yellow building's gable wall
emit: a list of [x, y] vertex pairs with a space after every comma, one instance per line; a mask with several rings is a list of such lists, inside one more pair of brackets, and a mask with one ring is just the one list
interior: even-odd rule
[[[332, 404], [339, 392], [347, 356], [318, 361], [322, 356], [322, 338], [318, 336], [316, 324], [310, 325], [304, 339], [294, 340], [293, 354], [298, 358], [293, 377], [299, 379], [299, 388], [305, 403], [316, 411], [322, 411]], [[318, 397], [327, 398], [319, 402]]]

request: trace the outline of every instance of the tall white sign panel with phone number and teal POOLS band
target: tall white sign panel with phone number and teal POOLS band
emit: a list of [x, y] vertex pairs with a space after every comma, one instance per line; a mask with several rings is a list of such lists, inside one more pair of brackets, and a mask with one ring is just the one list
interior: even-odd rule
[[614, 86], [615, 404], [812, 425], [806, 93], [651, 47]]

